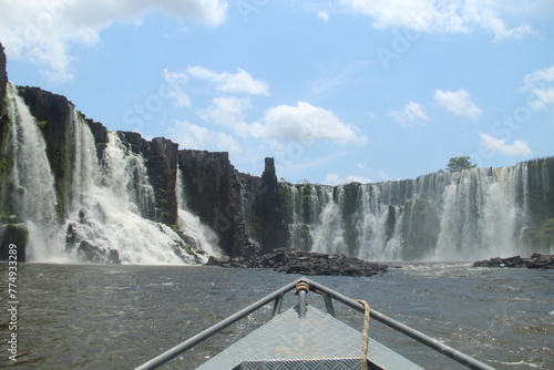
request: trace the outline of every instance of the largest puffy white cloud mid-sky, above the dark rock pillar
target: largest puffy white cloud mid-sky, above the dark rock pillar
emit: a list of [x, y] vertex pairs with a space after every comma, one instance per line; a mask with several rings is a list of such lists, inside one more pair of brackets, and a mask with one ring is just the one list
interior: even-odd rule
[[278, 105], [266, 111], [261, 122], [250, 125], [253, 136], [274, 143], [298, 142], [309, 144], [314, 140], [327, 140], [340, 144], [365, 144], [355, 127], [343, 123], [331, 111], [306, 102]]

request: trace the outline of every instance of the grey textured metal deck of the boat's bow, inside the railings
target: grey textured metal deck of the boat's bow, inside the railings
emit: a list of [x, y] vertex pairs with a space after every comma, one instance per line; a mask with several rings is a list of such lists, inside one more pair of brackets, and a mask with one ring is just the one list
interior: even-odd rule
[[[290, 308], [197, 369], [242, 369], [243, 362], [245, 366], [250, 362], [260, 366], [260, 361], [273, 361], [271, 366], [283, 367], [244, 369], [299, 369], [300, 363], [304, 363], [302, 369], [328, 369], [326, 366], [336, 360], [341, 360], [345, 366], [353, 363], [353, 367], [343, 369], [357, 369], [361, 361], [361, 332], [312, 306], [308, 306], [304, 319]], [[384, 369], [421, 369], [372, 339], [369, 340], [368, 359]], [[291, 367], [284, 367], [284, 363]], [[314, 368], [306, 367], [308, 364]]]

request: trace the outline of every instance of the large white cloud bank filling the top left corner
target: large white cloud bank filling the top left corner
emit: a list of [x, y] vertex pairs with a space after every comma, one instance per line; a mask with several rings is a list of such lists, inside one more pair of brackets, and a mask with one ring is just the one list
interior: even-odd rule
[[94, 45], [101, 31], [123, 21], [140, 24], [144, 14], [162, 12], [182, 21], [217, 25], [225, 21], [227, 2], [222, 0], [25, 0], [10, 1], [0, 12], [0, 40], [10, 59], [43, 66], [52, 80], [73, 78], [72, 45]]

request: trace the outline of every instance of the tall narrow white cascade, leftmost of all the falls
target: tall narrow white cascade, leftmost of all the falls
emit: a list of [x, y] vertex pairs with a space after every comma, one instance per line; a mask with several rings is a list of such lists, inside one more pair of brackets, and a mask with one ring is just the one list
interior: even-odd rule
[[11, 82], [7, 86], [7, 97], [14, 161], [11, 181], [17, 188], [12, 203], [29, 230], [28, 259], [58, 259], [63, 256], [63, 247], [55, 233], [59, 229], [57, 195], [44, 138]]

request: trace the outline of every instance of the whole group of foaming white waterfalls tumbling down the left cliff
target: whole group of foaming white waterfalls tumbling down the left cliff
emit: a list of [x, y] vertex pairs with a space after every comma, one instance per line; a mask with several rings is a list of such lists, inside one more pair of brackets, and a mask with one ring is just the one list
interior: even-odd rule
[[3, 206], [29, 233], [28, 260], [182, 265], [218, 254], [215, 234], [182, 199], [182, 234], [151, 220], [157, 209], [144, 158], [116, 133], [107, 133], [99, 161], [89, 124], [70, 104], [55, 157], [63, 174], [55, 179], [41, 132], [49, 123], [37, 122], [11, 83], [7, 103], [11, 126], [3, 151], [13, 166], [2, 178]]

